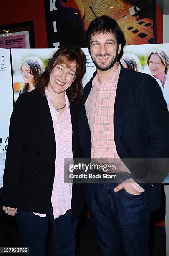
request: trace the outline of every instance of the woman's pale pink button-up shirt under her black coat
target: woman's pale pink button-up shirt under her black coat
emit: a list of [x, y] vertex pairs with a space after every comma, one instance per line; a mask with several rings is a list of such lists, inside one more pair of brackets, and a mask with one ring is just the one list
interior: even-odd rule
[[[46, 98], [50, 108], [50, 113], [53, 121], [53, 128], [56, 140], [56, 161], [55, 161], [55, 178], [52, 190], [52, 207], [54, 219], [66, 213], [71, 209], [72, 184], [64, 183], [64, 159], [73, 159], [72, 153], [72, 124], [71, 114], [69, 109], [69, 100], [65, 92], [66, 110], [57, 120], [57, 113], [51, 103], [51, 96], [48, 90], [45, 90]], [[35, 213], [40, 217], [45, 217], [46, 214]]]

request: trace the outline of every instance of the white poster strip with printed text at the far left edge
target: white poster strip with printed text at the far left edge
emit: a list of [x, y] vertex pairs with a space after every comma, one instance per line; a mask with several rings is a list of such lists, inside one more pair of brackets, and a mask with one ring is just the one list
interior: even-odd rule
[[10, 50], [0, 49], [0, 187], [3, 184], [10, 115], [13, 110], [13, 87]]

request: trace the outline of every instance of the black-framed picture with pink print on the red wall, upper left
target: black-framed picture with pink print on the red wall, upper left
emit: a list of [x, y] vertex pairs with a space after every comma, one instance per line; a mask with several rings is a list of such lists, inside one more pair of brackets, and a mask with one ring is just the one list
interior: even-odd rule
[[33, 21], [1, 25], [0, 48], [35, 48]]

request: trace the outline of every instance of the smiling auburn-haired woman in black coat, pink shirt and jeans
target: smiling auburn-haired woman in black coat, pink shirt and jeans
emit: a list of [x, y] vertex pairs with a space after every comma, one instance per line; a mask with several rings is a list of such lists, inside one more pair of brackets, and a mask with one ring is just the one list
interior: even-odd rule
[[[11, 116], [1, 204], [8, 215], [17, 213], [29, 256], [45, 255], [49, 216], [57, 255], [74, 256], [78, 212], [71, 212], [72, 184], [64, 183], [64, 159], [81, 157], [85, 62], [79, 47], [58, 49], [36, 89], [20, 95]], [[73, 197], [77, 208], [82, 198]]]

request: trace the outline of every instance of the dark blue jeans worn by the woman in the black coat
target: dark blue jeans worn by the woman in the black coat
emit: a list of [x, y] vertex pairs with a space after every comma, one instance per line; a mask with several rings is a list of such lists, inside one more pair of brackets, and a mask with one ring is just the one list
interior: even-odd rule
[[[24, 247], [29, 247], [29, 256], [45, 256], [45, 243], [48, 229], [48, 218], [39, 217], [32, 212], [18, 208], [16, 220]], [[50, 221], [53, 229], [53, 241], [57, 256], [75, 256], [75, 232], [78, 219], [71, 222], [71, 210], [54, 220], [50, 210]]]

